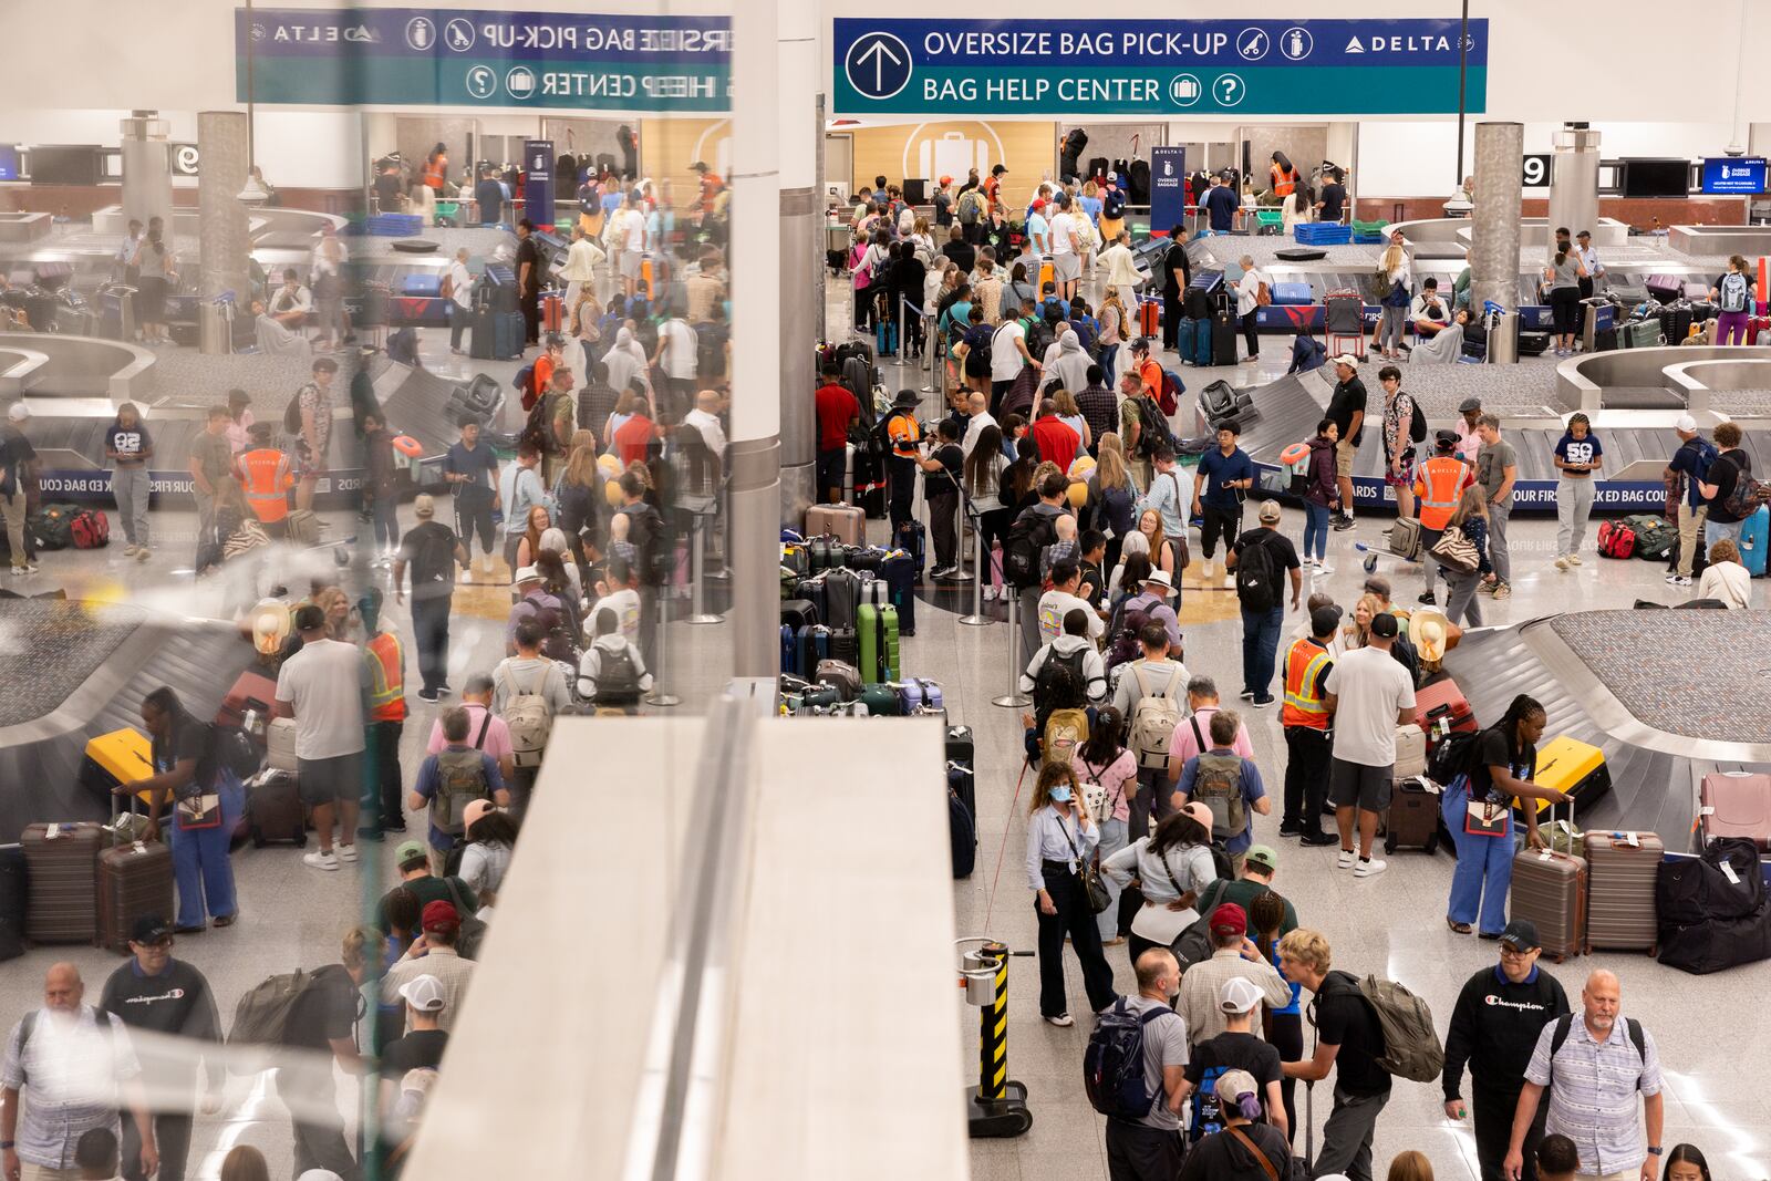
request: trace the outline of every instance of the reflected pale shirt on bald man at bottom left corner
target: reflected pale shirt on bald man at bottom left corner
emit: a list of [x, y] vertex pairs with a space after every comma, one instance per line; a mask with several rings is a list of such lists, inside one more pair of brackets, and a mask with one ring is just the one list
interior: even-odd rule
[[44, 1169], [73, 1169], [74, 1146], [94, 1128], [120, 1135], [117, 1084], [136, 1078], [142, 1064], [129, 1043], [129, 1030], [110, 1015], [110, 1029], [97, 1025], [97, 1009], [80, 1006], [73, 1022], [64, 1013], [37, 1009], [5, 1039], [0, 1087], [23, 1091], [18, 1121], [18, 1158]]

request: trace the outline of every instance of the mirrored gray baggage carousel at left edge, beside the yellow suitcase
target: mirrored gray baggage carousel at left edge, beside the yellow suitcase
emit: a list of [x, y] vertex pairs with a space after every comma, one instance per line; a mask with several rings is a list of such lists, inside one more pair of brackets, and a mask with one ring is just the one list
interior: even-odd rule
[[0, 841], [28, 823], [108, 820], [80, 784], [87, 742], [142, 728], [142, 699], [168, 685], [200, 719], [257, 655], [239, 629], [122, 604], [0, 598]]

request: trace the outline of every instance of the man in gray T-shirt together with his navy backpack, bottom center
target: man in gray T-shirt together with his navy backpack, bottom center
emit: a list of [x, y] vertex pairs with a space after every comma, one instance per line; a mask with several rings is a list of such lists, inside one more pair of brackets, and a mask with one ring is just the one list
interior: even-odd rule
[[1174, 1181], [1187, 1144], [1187, 1022], [1174, 1013], [1181, 965], [1167, 947], [1137, 958], [1137, 995], [1094, 1018], [1084, 1078], [1094, 1110], [1107, 1115], [1107, 1176], [1112, 1181]]

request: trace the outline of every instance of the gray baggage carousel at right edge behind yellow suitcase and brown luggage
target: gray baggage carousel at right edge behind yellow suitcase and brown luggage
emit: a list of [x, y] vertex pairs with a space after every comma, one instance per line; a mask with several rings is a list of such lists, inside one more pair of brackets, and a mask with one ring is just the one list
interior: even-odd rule
[[1445, 671], [1484, 726], [1523, 692], [1544, 706], [1544, 742], [1605, 751], [1612, 790], [1580, 809], [1582, 829], [1656, 832], [1684, 852], [1702, 846], [1704, 776], [1771, 770], [1767, 634], [1771, 611], [1580, 611], [1465, 632]]

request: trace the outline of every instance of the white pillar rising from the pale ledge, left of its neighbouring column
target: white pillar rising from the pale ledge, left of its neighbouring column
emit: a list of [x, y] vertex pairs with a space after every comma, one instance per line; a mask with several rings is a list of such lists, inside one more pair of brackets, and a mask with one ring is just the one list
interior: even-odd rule
[[[779, 12], [756, 0], [731, 14], [731, 675], [779, 675], [781, 602], [781, 117]], [[788, 18], [788, 27], [793, 19]], [[811, 87], [813, 74], [793, 80]], [[786, 87], [788, 92], [795, 85]], [[804, 271], [799, 278], [806, 285]], [[799, 349], [809, 351], [804, 335]]]

